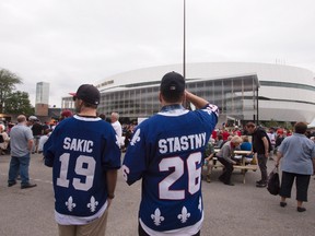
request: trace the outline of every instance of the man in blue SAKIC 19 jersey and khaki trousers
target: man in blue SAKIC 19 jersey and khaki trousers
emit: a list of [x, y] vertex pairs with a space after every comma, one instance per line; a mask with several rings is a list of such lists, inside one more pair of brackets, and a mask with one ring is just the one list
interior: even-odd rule
[[44, 146], [52, 167], [59, 235], [105, 235], [120, 150], [113, 127], [96, 116], [101, 94], [83, 84], [73, 94], [77, 115], [62, 120]]

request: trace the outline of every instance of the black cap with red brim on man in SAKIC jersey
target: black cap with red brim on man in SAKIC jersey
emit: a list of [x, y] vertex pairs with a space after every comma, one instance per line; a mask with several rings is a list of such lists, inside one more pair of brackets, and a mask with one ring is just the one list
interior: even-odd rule
[[71, 95], [73, 99], [79, 98], [93, 105], [98, 105], [101, 99], [100, 91], [92, 84], [82, 84], [77, 93], [72, 93]]

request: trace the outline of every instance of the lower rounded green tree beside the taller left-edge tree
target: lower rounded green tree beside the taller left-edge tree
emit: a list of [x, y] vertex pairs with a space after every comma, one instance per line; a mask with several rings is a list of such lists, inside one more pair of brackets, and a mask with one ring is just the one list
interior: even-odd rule
[[34, 108], [30, 103], [28, 93], [21, 91], [11, 93], [9, 97], [5, 98], [5, 113], [24, 114], [26, 116], [33, 115]]

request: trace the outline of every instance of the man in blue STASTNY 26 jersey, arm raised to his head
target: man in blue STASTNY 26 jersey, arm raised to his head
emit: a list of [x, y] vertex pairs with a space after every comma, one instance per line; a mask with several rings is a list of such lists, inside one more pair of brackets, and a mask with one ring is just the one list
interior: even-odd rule
[[[185, 98], [197, 110], [185, 109]], [[122, 166], [128, 185], [142, 178], [139, 235], [200, 235], [202, 153], [219, 110], [185, 91], [176, 72], [163, 76], [160, 102], [161, 111], [135, 130]]]

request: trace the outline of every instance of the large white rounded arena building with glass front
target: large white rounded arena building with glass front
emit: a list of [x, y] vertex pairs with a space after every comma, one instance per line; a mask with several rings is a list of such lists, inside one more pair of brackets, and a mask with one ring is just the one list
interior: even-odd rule
[[[143, 68], [108, 76], [94, 84], [102, 94], [98, 113], [121, 118], [150, 117], [160, 110], [159, 86], [170, 72], [182, 73], [182, 64]], [[314, 73], [283, 64], [202, 62], [186, 64], [187, 90], [218, 105], [220, 122], [306, 121], [315, 119]], [[73, 108], [71, 97], [62, 108]]]

